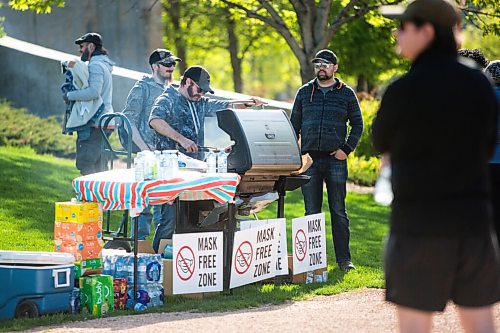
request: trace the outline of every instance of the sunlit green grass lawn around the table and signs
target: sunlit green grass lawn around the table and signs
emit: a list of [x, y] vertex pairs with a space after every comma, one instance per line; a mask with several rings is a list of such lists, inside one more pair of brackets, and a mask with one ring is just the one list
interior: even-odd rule
[[[74, 194], [71, 180], [78, 172], [71, 160], [35, 154], [27, 148], [0, 147], [0, 249], [53, 250], [54, 202], [69, 200]], [[326, 193], [323, 210], [327, 211]], [[161, 308], [148, 312], [224, 311], [279, 304], [315, 295], [332, 295], [356, 288], [382, 288], [382, 249], [387, 233], [388, 209], [377, 206], [370, 195], [349, 193], [347, 210], [351, 221], [351, 254], [357, 270], [341, 272], [335, 264], [330, 228], [327, 221], [327, 255], [329, 281], [323, 284], [281, 285], [254, 284], [204, 300], [168, 298]], [[276, 205], [259, 214], [273, 218]], [[304, 214], [300, 191], [287, 193], [285, 215], [288, 247], [291, 248], [291, 219]], [[133, 311], [117, 311], [111, 316], [133, 315]], [[21, 330], [41, 325], [55, 325], [90, 318], [83, 315], [57, 314], [34, 319], [0, 321], [0, 331]]]

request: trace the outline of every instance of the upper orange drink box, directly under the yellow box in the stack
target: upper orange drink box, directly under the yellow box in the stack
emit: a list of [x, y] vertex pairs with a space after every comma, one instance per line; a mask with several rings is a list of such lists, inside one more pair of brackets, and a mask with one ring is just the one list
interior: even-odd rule
[[96, 241], [102, 238], [102, 221], [75, 223], [54, 222], [54, 239], [65, 242]]

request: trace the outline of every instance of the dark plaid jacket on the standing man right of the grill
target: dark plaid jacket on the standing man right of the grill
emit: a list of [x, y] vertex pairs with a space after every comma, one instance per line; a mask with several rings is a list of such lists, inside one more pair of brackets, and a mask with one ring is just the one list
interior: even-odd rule
[[[339, 79], [324, 94], [316, 79], [300, 87], [290, 120], [297, 138], [301, 135], [302, 153], [332, 152], [349, 154], [363, 133], [363, 116], [354, 91]], [[347, 122], [351, 131], [347, 133]]]

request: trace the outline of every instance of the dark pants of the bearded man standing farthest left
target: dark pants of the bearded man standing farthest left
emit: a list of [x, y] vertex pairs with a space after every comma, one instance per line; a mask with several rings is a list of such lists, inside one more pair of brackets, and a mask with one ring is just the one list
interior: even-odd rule
[[[108, 159], [101, 152], [103, 140], [101, 130], [91, 127], [90, 136], [88, 133], [82, 134], [82, 132], [78, 132], [76, 140], [76, 168], [80, 170], [82, 176], [105, 171], [107, 167], [102, 169], [101, 162], [104, 162], [103, 165], [106, 166]], [[107, 133], [108, 136], [109, 134]]]

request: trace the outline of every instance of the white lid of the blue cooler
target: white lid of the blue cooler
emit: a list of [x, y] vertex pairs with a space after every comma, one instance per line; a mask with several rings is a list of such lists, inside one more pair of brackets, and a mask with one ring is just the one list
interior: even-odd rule
[[75, 257], [71, 253], [0, 250], [0, 264], [63, 265], [74, 262]]

